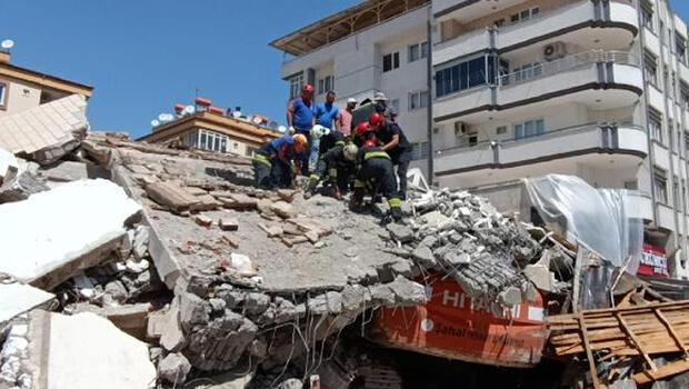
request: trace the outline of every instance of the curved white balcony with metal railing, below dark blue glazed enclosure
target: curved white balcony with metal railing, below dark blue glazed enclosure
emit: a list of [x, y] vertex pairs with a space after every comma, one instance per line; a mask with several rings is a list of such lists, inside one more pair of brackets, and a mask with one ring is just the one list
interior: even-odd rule
[[615, 109], [633, 104], [642, 92], [638, 57], [622, 51], [591, 50], [502, 76], [497, 86], [445, 96], [436, 100], [433, 109], [438, 122], [537, 102], [555, 104], [553, 99], [558, 103], [583, 104], [600, 100], [605, 109]]

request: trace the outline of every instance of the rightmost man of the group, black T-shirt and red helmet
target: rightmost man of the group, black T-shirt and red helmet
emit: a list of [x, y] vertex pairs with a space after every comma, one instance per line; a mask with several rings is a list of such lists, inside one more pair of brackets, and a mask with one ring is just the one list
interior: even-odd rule
[[411, 143], [399, 124], [383, 114], [378, 112], [371, 114], [369, 124], [376, 129], [376, 137], [380, 141], [382, 151], [390, 156], [392, 164], [397, 167], [399, 198], [407, 200], [407, 170], [411, 163]]

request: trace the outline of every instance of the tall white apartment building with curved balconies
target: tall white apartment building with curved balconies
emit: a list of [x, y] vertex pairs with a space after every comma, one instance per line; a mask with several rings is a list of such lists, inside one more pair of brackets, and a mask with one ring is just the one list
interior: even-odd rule
[[[355, 28], [365, 10], [412, 3]], [[399, 99], [410, 140], [432, 133], [430, 173], [441, 187], [471, 189], [527, 220], [521, 178], [566, 173], [638, 190], [628, 208], [645, 220], [646, 243], [676, 252], [672, 276], [689, 278], [687, 40], [668, 0], [369, 0], [272, 44], [292, 56], [282, 67], [292, 93], [331, 76], [341, 97]], [[428, 61], [409, 61], [423, 41], [430, 87]], [[399, 69], [386, 71], [395, 52]], [[420, 90], [429, 110], [405, 109]]]

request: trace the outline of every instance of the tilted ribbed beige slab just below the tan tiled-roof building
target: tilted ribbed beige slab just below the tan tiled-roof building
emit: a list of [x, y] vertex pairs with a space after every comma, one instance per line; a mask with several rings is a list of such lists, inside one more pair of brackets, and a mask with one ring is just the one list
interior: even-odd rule
[[39, 163], [73, 151], [89, 123], [83, 96], [72, 94], [0, 118], [0, 147]]

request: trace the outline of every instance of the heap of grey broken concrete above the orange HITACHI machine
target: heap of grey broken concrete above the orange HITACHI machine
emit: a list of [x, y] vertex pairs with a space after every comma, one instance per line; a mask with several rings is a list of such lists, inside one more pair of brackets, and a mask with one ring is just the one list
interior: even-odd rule
[[416, 231], [389, 229], [419, 267], [452, 277], [478, 308], [501, 312], [533, 301], [535, 286], [522, 270], [542, 248], [519, 222], [466, 191], [431, 191], [412, 203]]

